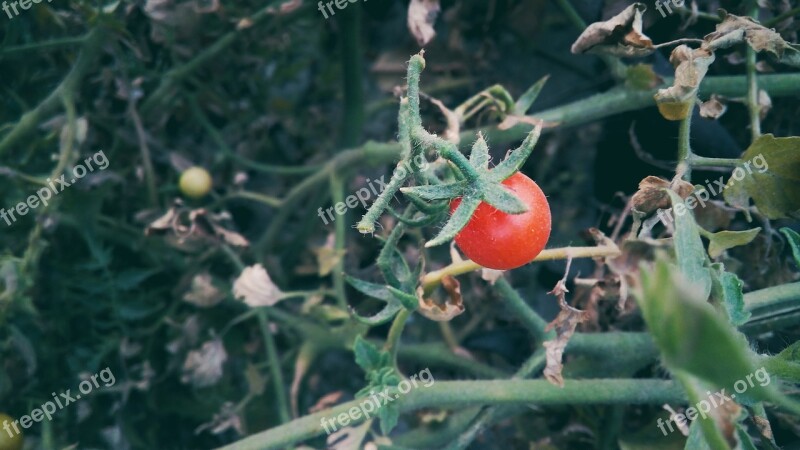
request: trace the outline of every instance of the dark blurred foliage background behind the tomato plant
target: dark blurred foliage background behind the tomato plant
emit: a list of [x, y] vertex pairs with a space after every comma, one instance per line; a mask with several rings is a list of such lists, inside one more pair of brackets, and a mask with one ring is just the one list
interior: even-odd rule
[[[703, 11], [742, 9], [738, 2], [699, 3]], [[768, 3], [762, 14], [772, 16], [788, 4]], [[586, 22], [626, 6], [595, 0], [573, 4]], [[534, 108], [541, 111], [610, 89], [616, 81], [599, 58], [569, 53], [581, 30], [559, 6], [544, 0], [442, 1], [437, 37], [426, 47], [423, 91], [456, 105], [495, 83], [519, 95], [549, 75]], [[334, 170], [325, 166], [343, 149], [396, 138], [392, 91], [405, 84], [406, 61], [419, 51], [406, 26], [406, 9], [404, 1], [370, 0], [349, 4], [325, 20], [307, 1], [55, 0], [13, 19], [0, 16], [0, 206], [10, 208], [31, 195], [37, 179], [53, 173], [59, 155], [75, 162], [103, 149], [110, 160], [106, 171], [81, 180], [50, 207], [1, 225], [0, 409], [19, 417], [46, 401], [50, 392], [77, 386], [81, 374], [107, 366], [117, 379], [113, 388], [28, 430], [30, 448], [212, 448], [242, 437], [236, 426], [219, 432], [199, 428], [219, 424], [215, 415], [228, 404], [236, 414], [223, 416], [242, 432], [281, 421], [271, 389], [264, 388], [275, 376], [268, 341], [275, 341], [288, 392], [308, 340], [297, 331], [298, 321], [334, 328], [345, 323], [347, 310], [333, 301], [344, 289], [337, 274], [342, 269], [367, 279], [376, 274], [380, 242], [352, 228], [363, 210], [329, 225], [316, 210], [387, 173], [396, 156], [377, 154]], [[645, 18], [647, 34], [658, 42], [702, 37], [714, 27], [703, 17], [685, 26], [686, 15], [661, 18], [652, 7]], [[784, 37], [796, 42], [795, 22], [781, 27]], [[665, 49], [644, 62], [670, 76], [668, 57]], [[741, 49], [730, 50], [718, 57], [709, 75], [741, 75], [742, 61]], [[789, 72], [780, 66], [762, 68]], [[71, 82], [60, 84], [65, 77]], [[762, 129], [780, 136], [800, 134], [798, 107], [797, 93], [772, 98]], [[24, 135], [9, 139], [30, 111], [34, 115], [23, 124]], [[430, 103], [423, 102], [422, 112], [428, 129], [444, 130], [444, 120]], [[738, 157], [749, 145], [747, 122], [747, 108], [738, 103], [731, 103], [719, 121], [698, 118], [692, 124], [695, 153]], [[485, 113], [468, 128], [494, 124], [496, 116]], [[69, 139], [64, 130], [73, 126], [78, 136]], [[85, 133], [80, 132], [83, 126]], [[665, 121], [654, 105], [548, 129], [523, 168], [552, 207], [548, 247], [587, 245], [589, 227], [610, 233], [612, 219], [642, 178], [674, 173], [669, 164], [659, 168], [642, 161], [635, 147], [674, 162], [677, 136], [677, 123]], [[489, 144], [495, 161], [515, 146], [493, 145], [491, 136]], [[169, 239], [169, 233], [145, 235], [147, 225], [181, 197], [177, 180], [189, 165], [207, 168], [214, 189], [204, 199], [184, 199], [185, 205], [227, 211], [229, 217], [220, 223], [241, 233], [250, 242], [247, 249], [216, 237], [187, 246]], [[328, 177], [318, 178], [313, 189], [276, 207], [274, 199], [286, 199], [323, 170], [332, 176], [330, 184]], [[695, 179], [704, 179], [704, 173]], [[741, 215], [719, 214], [706, 218], [707, 223], [750, 227]], [[776, 231], [780, 226], [797, 229], [797, 222], [762, 226], [764, 232], [753, 243], [726, 256], [728, 270], [742, 278], [748, 291], [798, 278], [786, 241]], [[419, 252], [422, 237], [404, 241], [410, 259]], [[264, 264], [285, 292], [322, 289], [325, 297], [287, 299], [279, 307], [283, 319], [269, 326], [252, 318], [237, 320], [247, 307], [230, 294], [239, 271], [232, 253], [246, 264]], [[431, 251], [429, 258], [431, 270], [449, 261], [446, 248]], [[325, 264], [333, 270], [321, 273]], [[589, 276], [593, 267], [590, 260], [576, 260], [573, 273]], [[547, 292], [563, 272], [564, 262], [552, 261], [515, 270], [508, 279], [550, 320], [558, 305]], [[212, 307], [185, 300], [192, 279], [201, 273], [208, 273], [224, 293]], [[447, 348], [443, 340], [454, 339], [483, 370], [495, 370], [498, 377], [512, 373], [539, 343], [477, 275], [463, 277], [462, 283], [467, 314], [451, 323], [454, 337], [443, 337], [435, 323], [417, 316], [404, 342], [430, 345], [441, 353]], [[346, 296], [356, 309], [375, 307], [349, 289]], [[590, 306], [582, 303], [586, 295], [575, 301], [595, 313], [581, 331], [643, 329], [632, 300], [621, 311], [615, 301]], [[265, 339], [265, 330], [272, 338]], [[369, 336], [379, 338], [387, 330], [376, 327]], [[760, 351], [777, 353], [797, 341], [798, 331], [788, 326], [755, 338]], [[224, 344], [227, 359], [214, 383], [198, 386], [182, 370], [185, 359], [216, 339]], [[348, 399], [363, 387], [363, 374], [346, 345], [328, 344], [316, 348], [305, 367], [296, 392], [300, 415], [327, 393], [342, 391], [342, 399]], [[403, 356], [401, 363], [405, 373], [436, 366], [437, 381], [476, 376], [475, 370], [465, 369], [471, 362], [448, 364], [446, 359], [430, 360], [420, 353]], [[570, 370], [586, 377], [591, 371], [581, 368], [580, 360]], [[639, 375], [663, 375], [656, 361], [639, 370]], [[651, 418], [658, 413], [652, 405], [534, 408], [489, 427], [474, 448], [527, 448], [528, 442], [616, 448], [618, 437], [625, 441], [639, 430], [652, 435]], [[796, 417], [773, 418], [780, 442], [800, 442]], [[425, 421], [436, 419], [413, 416], [401, 421], [397, 431], [419, 429]], [[613, 431], [607, 435], [609, 427]], [[428, 428], [436, 430], [435, 425]], [[323, 443], [317, 439], [312, 445]]]

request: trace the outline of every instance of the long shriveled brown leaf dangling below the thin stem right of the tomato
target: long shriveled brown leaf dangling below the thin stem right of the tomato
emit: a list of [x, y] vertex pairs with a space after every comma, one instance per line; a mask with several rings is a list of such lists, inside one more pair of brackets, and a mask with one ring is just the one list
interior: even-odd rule
[[[569, 264], [567, 264], [569, 267]], [[545, 341], [545, 357], [547, 365], [544, 368], [544, 376], [547, 381], [558, 387], [564, 387], [564, 377], [561, 370], [564, 365], [561, 360], [564, 356], [564, 349], [567, 348], [569, 338], [575, 333], [575, 328], [579, 323], [587, 319], [586, 312], [569, 306], [566, 302], [566, 293], [569, 292], [566, 286], [566, 275], [556, 283], [550, 294], [558, 297], [558, 304], [561, 312], [558, 313], [552, 322], [547, 324], [545, 331], [556, 330], [556, 337], [553, 340]]]

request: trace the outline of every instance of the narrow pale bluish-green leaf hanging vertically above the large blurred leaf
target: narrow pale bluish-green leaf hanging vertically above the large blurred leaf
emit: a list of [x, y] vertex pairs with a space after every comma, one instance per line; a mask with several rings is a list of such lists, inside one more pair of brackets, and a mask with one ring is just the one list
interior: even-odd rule
[[[683, 204], [681, 197], [671, 189], [666, 189], [672, 199], [673, 208], [675, 205]], [[703, 293], [703, 299], [707, 299], [711, 293], [711, 273], [706, 267], [708, 257], [703, 248], [703, 241], [700, 239], [700, 230], [694, 221], [692, 213], [684, 210], [683, 214], [675, 213], [675, 257], [678, 260], [683, 276], [686, 280], [698, 286]]]

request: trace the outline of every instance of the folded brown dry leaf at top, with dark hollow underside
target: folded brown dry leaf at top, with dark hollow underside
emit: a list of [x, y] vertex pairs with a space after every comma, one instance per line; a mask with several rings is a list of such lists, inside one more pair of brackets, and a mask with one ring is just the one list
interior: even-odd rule
[[641, 57], [655, 51], [653, 41], [642, 33], [643, 3], [634, 3], [605, 22], [595, 22], [572, 44], [572, 53], [605, 53]]

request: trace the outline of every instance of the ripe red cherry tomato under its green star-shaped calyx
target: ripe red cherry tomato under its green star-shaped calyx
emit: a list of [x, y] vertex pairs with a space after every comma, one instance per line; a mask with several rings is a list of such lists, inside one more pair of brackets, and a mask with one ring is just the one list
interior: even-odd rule
[[[533, 261], [550, 238], [550, 205], [533, 180], [516, 172], [503, 186], [528, 207], [522, 214], [506, 214], [481, 203], [456, 235], [456, 245], [471, 260], [489, 269], [509, 270]], [[450, 203], [450, 213], [461, 203]]]

